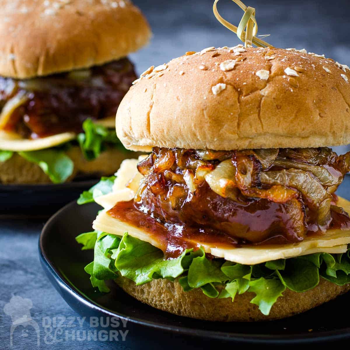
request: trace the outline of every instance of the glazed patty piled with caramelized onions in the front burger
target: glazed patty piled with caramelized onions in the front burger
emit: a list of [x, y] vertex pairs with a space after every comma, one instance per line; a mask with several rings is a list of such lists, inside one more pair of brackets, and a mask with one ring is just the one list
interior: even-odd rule
[[172, 233], [177, 244], [186, 235], [224, 236], [237, 245], [296, 243], [350, 228], [334, 195], [349, 165], [350, 153], [338, 156], [327, 147], [154, 147], [138, 165], [144, 179], [133, 206], [163, 225], [180, 225]]

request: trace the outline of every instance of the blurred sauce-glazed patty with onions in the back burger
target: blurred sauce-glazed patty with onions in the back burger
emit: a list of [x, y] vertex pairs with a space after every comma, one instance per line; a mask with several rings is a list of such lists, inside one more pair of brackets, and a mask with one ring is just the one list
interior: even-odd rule
[[10, 117], [0, 120], [0, 128], [27, 139], [78, 133], [87, 118], [114, 116], [135, 79], [128, 58], [28, 80], [0, 77], [0, 107], [4, 109], [13, 98], [21, 99]]

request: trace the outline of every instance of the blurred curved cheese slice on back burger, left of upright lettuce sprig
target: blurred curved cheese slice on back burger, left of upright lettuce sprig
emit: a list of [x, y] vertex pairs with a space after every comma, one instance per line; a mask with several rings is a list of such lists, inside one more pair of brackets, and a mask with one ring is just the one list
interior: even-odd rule
[[75, 133], [65, 132], [62, 134], [44, 137], [42, 139], [28, 140], [22, 139], [20, 135], [0, 131], [0, 149], [3, 151], [27, 152], [39, 149], [50, 148], [74, 140]]

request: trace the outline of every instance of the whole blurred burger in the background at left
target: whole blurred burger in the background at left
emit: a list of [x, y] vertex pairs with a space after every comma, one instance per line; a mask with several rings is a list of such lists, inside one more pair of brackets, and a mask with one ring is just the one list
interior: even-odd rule
[[131, 1], [1, 1], [0, 183], [112, 175], [115, 114], [151, 36]]

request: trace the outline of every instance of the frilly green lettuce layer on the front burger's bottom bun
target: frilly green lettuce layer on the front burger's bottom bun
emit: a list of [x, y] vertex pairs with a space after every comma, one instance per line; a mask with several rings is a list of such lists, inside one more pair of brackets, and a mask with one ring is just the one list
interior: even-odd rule
[[[153, 279], [178, 278], [185, 292], [200, 288], [208, 297], [226, 298], [245, 292], [254, 293], [251, 303], [268, 315], [286, 289], [304, 292], [317, 286], [320, 276], [343, 285], [350, 282], [348, 253], [315, 253], [303, 257], [279, 259], [258, 265], [242, 265], [224, 259], [210, 259], [203, 248], [188, 249], [176, 259], [151, 244], [131, 237], [89, 232], [77, 237], [83, 249], [94, 249], [94, 261], [86, 266], [93, 287], [108, 292], [105, 280], [124, 276], [137, 285]], [[96, 242], [93, 245], [93, 241]]]

